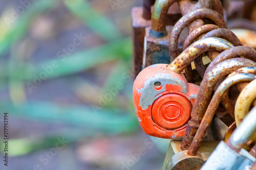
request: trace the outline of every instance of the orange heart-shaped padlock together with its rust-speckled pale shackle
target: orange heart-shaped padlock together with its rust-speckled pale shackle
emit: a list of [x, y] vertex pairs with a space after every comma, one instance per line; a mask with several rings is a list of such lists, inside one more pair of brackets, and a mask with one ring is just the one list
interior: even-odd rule
[[[181, 138], [198, 91], [198, 86], [187, 83], [181, 71], [206, 51], [230, 47], [230, 42], [224, 39], [205, 38], [191, 44], [171, 64], [152, 65], [143, 69], [133, 87], [135, 110], [142, 129], [156, 137]], [[176, 101], [177, 106], [167, 107], [169, 105], [165, 103], [168, 101]], [[185, 110], [178, 103], [186, 106]]]

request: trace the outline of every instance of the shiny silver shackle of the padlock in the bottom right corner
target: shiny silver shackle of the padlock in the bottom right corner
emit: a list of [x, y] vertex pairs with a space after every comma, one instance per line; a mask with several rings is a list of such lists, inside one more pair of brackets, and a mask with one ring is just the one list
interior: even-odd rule
[[[255, 88], [256, 80], [253, 80], [249, 84], [253, 84]], [[254, 106], [251, 111], [244, 117], [240, 126], [234, 130], [232, 135], [227, 141], [227, 145], [238, 152], [243, 148], [244, 145], [252, 138], [256, 133], [256, 107]]]

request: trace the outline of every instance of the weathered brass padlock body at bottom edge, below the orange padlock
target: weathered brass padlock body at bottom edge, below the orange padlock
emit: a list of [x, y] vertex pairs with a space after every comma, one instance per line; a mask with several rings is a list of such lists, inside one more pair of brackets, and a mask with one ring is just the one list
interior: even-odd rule
[[[171, 140], [169, 144], [169, 148], [166, 152], [166, 156], [164, 159], [162, 170], [169, 170], [169, 169], [196, 169], [197, 167], [200, 169], [202, 163], [204, 163], [204, 160], [206, 160], [210, 153], [212, 153], [217, 145], [219, 144], [219, 141], [203, 141], [200, 145], [199, 151], [200, 154], [198, 157], [192, 157], [186, 154], [185, 159], [181, 160], [184, 164], [177, 163], [179, 162], [179, 155], [182, 157], [184, 154], [179, 154], [174, 157], [173, 156], [182, 152], [180, 149], [181, 141], [180, 140]], [[194, 159], [196, 158], [196, 159]], [[203, 162], [202, 162], [203, 161]], [[197, 163], [197, 164], [196, 164]], [[200, 164], [198, 164], [200, 163]], [[174, 167], [175, 165], [175, 167]], [[183, 165], [183, 167], [182, 167]], [[200, 166], [198, 166], [200, 165]], [[184, 167], [186, 166], [186, 167]]]

